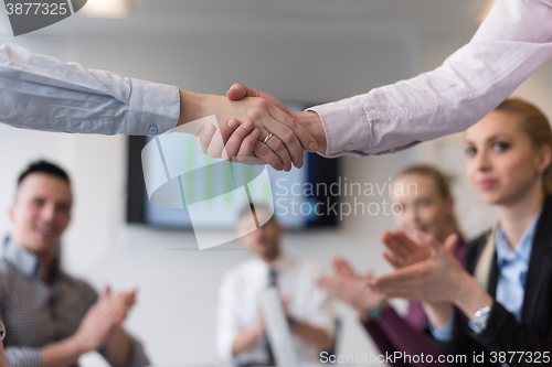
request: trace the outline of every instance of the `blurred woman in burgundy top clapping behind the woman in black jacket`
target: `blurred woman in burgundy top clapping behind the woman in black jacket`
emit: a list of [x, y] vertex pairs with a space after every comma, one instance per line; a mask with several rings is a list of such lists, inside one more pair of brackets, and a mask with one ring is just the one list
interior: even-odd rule
[[[454, 214], [454, 198], [449, 181], [438, 169], [417, 164], [402, 170], [393, 180], [393, 203], [401, 204], [402, 211], [395, 216], [399, 228], [406, 233], [421, 230], [432, 234], [443, 241], [450, 234], [460, 234]], [[461, 240], [456, 257], [461, 261], [466, 244]], [[410, 251], [391, 247], [392, 253], [384, 253], [395, 267], [415, 261]], [[433, 355], [437, 360], [438, 352], [426, 337], [427, 316], [423, 303], [412, 301], [405, 317], [400, 316], [380, 293], [368, 290], [367, 282], [371, 271], [359, 274], [343, 258], [333, 259], [335, 273], [320, 278], [319, 284], [330, 295], [351, 305], [374, 341], [380, 352], [408, 355]], [[431, 364], [438, 366], [439, 364]], [[428, 366], [424, 363], [395, 363], [393, 366]]]

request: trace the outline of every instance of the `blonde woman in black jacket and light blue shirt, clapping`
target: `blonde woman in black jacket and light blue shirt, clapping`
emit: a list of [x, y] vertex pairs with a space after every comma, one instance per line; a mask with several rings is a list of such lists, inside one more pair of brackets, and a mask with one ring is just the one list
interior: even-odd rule
[[[552, 363], [552, 131], [534, 106], [508, 99], [466, 131], [467, 175], [495, 205], [498, 223], [466, 252], [467, 270], [443, 242], [384, 234], [393, 247], [426, 260], [371, 281], [386, 296], [424, 301], [443, 354], [458, 365]], [[417, 245], [424, 245], [420, 247]], [[478, 356], [479, 360], [473, 358]]]

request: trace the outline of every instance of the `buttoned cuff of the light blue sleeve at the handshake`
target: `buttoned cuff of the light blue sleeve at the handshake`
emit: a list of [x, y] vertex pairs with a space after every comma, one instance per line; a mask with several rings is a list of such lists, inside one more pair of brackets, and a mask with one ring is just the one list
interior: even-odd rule
[[173, 129], [180, 117], [180, 93], [174, 86], [130, 79], [128, 136], [157, 136]]

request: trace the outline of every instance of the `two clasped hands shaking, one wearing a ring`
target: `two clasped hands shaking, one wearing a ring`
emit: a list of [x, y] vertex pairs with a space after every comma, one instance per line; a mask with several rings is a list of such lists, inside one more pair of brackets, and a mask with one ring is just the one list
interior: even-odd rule
[[198, 134], [203, 153], [245, 164], [269, 164], [277, 171], [304, 165], [304, 151], [326, 151], [326, 133], [317, 112], [290, 111], [257, 89], [234, 84], [226, 97], [180, 90], [177, 126], [215, 115]]

